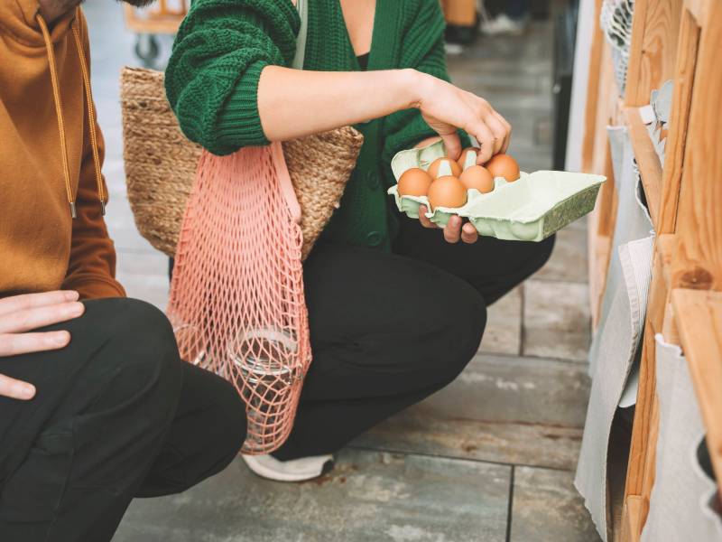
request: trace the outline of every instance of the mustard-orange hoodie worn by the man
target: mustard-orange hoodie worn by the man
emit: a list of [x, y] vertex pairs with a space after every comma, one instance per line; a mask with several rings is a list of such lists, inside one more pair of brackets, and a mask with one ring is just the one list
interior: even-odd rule
[[0, 297], [56, 288], [122, 296], [101, 212], [104, 145], [88, 111], [85, 18], [78, 8], [43, 34], [37, 17], [36, 0], [0, 1]]

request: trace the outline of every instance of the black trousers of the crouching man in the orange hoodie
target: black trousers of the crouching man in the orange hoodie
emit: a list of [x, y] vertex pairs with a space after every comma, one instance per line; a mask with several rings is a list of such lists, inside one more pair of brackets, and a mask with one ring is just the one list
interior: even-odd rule
[[0, 540], [110, 540], [134, 497], [184, 491], [236, 456], [236, 390], [179, 359], [153, 306], [91, 301], [49, 329], [69, 330], [69, 346], [0, 359], [37, 388], [0, 397]]

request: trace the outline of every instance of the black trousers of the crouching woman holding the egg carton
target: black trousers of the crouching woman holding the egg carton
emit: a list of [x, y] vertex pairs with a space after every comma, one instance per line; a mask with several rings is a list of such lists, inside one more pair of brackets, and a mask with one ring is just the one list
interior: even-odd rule
[[400, 221], [393, 254], [322, 243], [304, 264], [313, 361], [278, 459], [335, 452], [449, 384], [477, 351], [486, 306], [554, 246], [449, 245], [439, 230]]

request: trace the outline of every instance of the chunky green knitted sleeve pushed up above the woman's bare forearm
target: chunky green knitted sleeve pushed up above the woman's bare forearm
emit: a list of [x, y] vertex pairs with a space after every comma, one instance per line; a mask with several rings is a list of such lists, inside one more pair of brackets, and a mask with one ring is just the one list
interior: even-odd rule
[[267, 145], [258, 79], [291, 64], [300, 25], [291, 0], [195, 0], [165, 71], [183, 133], [214, 154]]

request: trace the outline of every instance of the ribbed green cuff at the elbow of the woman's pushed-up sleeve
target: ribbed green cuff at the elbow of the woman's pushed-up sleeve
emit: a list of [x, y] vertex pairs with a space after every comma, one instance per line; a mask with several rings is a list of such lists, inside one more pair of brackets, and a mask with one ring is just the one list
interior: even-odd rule
[[256, 61], [245, 70], [218, 115], [218, 142], [230, 152], [242, 146], [268, 145], [258, 114], [258, 80], [266, 61]]

